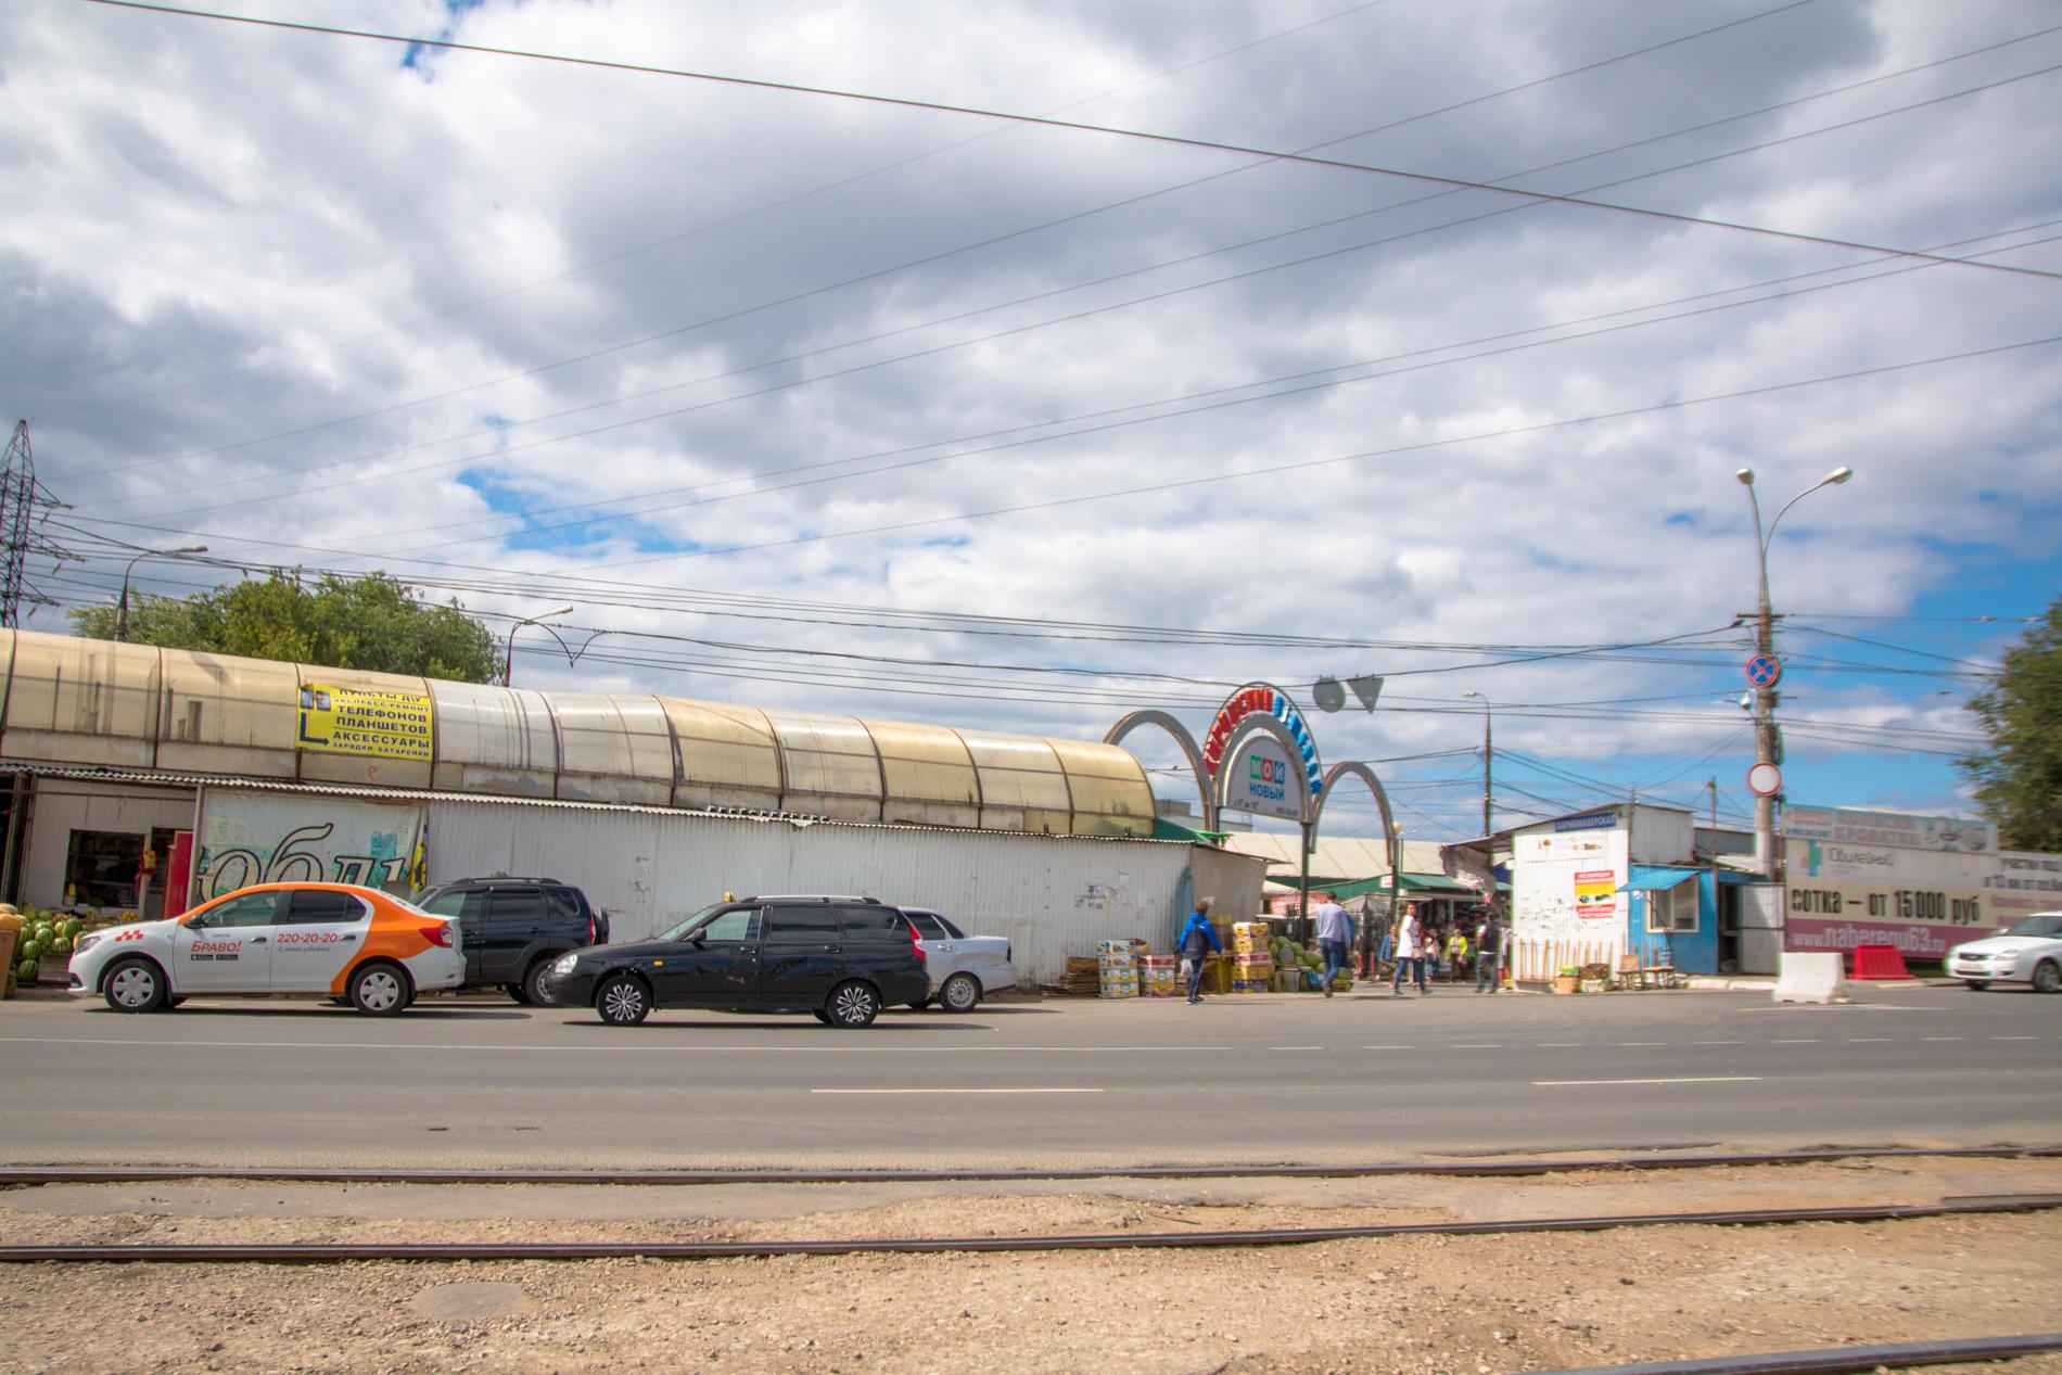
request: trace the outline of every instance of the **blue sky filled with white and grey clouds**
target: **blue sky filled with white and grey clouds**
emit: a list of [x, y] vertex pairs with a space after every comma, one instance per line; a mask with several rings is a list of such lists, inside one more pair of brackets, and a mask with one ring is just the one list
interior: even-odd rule
[[206, 544], [138, 579], [571, 604], [526, 686], [1099, 738], [1384, 674], [1318, 746], [1452, 839], [1485, 699], [1499, 823], [1751, 810], [1742, 466], [1856, 470], [1771, 544], [1794, 802], [1963, 810], [2062, 588], [2041, 0], [223, 12], [532, 56], [0, 10], [33, 629]]

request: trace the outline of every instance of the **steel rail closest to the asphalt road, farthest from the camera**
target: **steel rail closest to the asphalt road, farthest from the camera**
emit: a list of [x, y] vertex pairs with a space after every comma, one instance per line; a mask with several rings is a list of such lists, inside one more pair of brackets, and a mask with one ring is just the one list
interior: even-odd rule
[[1379, 1165], [1111, 1165], [1085, 1169], [324, 1169], [297, 1165], [0, 1165], [0, 1187], [45, 1183], [1066, 1183], [1080, 1179], [1367, 1179], [1382, 1175], [1524, 1177], [1726, 1165], [1825, 1165], [1885, 1159], [2058, 1159], [2062, 1146], [1856, 1146], [1732, 1154], [1627, 1154], [1573, 1161], [1423, 1161]]

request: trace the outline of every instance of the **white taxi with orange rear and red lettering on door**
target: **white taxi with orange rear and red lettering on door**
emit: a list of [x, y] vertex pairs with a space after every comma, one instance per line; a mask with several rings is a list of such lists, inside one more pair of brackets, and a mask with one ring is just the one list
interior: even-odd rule
[[82, 936], [70, 992], [115, 1012], [155, 1012], [188, 998], [328, 994], [367, 1016], [392, 1016], [425, 990], [458, 987], [458, 926], [375, 888], [268, 882], [237, 888], [169, 921]]

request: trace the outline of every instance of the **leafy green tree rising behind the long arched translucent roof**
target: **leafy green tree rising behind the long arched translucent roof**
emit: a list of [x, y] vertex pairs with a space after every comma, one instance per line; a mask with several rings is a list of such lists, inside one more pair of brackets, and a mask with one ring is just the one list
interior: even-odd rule
[[[115, 637], [113, 606], [78, 606], [72, 629]], [[326, 668], [493, 682], [495, 641], [458, 608], [419, 600], [414, 588], [386, 573], [324, 573], [313, 588], [299, 575], [227, 583], [190, 598], [130, 592], [130, 633], [140, 645], [241, 653]]]

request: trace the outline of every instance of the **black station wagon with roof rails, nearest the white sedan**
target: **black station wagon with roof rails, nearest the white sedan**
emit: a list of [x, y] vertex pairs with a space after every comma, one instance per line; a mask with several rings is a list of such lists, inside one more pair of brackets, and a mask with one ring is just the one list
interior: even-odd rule
[[899, 907], [773, 895], [716, 903], [654, 940], [563, 954], [538, 992], [614, 1027], [652, 1008], [812, 1012], [827, 1027], [866, 1027], [883, 1004], [928, 998], [930, 975]]

